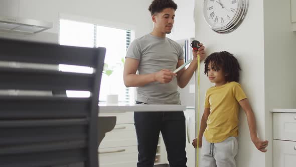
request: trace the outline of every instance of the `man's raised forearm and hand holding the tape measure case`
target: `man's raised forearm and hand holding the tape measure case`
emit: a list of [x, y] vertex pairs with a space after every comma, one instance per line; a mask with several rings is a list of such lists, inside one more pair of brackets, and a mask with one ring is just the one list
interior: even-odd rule
[[[200, 48], [198, 51], [192, 50], [193, 59], [187, 69], [183, 68], [179, 72], [177, 72], [178, 86], [180, 88], [186, 87], [189, 80], [191, 79], [194, 71], [197, 68], [197, 54], [200, 54], [200, 61], [202, 61], [205, 56], [205, 47], [203, 44], [200, 44]], [[184, 60], [179, 60], [177, 63], [177, 68], [184, 64]]]

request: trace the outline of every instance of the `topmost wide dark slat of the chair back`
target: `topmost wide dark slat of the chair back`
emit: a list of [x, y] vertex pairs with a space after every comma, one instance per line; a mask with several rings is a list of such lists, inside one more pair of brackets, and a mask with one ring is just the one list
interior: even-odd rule
[[2, 61], [96, 67], [98, 49], [0, 39]]

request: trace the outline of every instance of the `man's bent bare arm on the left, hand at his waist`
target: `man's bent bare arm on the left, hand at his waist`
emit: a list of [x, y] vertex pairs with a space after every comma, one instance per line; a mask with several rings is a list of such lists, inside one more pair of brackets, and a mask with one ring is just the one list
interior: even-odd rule
[[162, 69], [159, 72], [150, 74], [136, 74], [139, 60], [133, 58], [125, 58], [123, 69], [123, 81], [126, 87], [141, 87], [154, 81], [159, 81], [163, 84], [170, 82], [175, 73], [169, 69]]

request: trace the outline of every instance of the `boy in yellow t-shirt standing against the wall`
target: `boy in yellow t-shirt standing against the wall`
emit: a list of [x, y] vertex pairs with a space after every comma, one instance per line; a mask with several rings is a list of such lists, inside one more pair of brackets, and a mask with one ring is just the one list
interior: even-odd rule
[[[203, 167], [235, 167], [238, 143], [239, 106], [247, 116], [250, 136], [256, 148], [266, 152], [268, 141], [257, 137], [256, 122], [248, 99], [239, 81], [240, 65], [230, 53], [215, 52], [205, 60], [205, 71], [209, 80], [215, 83], [207, 90], [205, 110], [201, 119], [199, 145], [202, 145]], [[193, 140], [197, 147], [197, 139]]]

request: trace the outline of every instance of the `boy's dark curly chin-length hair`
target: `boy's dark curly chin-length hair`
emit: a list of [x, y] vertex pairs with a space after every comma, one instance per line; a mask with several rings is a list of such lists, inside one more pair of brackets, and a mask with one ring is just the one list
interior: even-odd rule
[[205, 60], [205, 74], [207, 74], [207, 76], [208, 65], [210, 62], [212, 62], [212, 68], [217, 69], [217, 71], [222, 68], [225, 72], [225, 81], [239, 81], [239, 71], [241, 68], [233, 54], [227, 51], [214, 52], [210, 54]]

